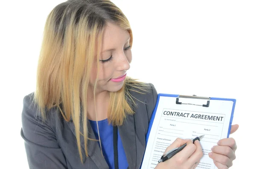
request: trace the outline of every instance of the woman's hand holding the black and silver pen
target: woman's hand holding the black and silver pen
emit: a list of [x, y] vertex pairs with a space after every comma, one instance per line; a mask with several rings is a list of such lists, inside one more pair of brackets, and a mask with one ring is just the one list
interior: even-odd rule
[[176, 147], [180, 147], [187, 143], [187, 146], [178, 152], [175, 156], [164, 162], [158, 163], [155, 169], [195, 169], [200, 159], [203, 157], [202, 147], [198, 140], [192, 143], [190, 139], [177, 138], [170, 146], [167, 147], [166, 152]]

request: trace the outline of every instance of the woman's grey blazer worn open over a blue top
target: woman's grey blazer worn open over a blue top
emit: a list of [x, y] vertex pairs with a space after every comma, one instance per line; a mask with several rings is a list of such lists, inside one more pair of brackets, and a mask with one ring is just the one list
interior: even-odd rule
[[[136, 113], [128, 116], [122, 126], [118, 126], [128, 169], [139, 169], [143, 160], [148, 124], [157, 100], [156, 89], [151, 83], [149, 85], [149, 93], [131, 91], [131, 95], [144, 103], [135, 99], [137, 106], [132, 106]], [[30, 169], [109, 169], [99, 144], [92, 140], [88, 141], [89, 157], [85, 156], [82, 149], [81, 163], [72, 120], [66, 122], [60, 114], [55, 113], [56, 108], [52, 108], [47, 112], [47, 123], [42, 123], [40, 116], [35, 116], [37, 107], [31, 104], [32, 95], [30, 93], [23, 99], [20, 133], [25, 142]], [[88, 130], [89, 137], [95, 138], [90, 123]], [[84, 139], [81, 137], [81, 146], [83, 145]]]

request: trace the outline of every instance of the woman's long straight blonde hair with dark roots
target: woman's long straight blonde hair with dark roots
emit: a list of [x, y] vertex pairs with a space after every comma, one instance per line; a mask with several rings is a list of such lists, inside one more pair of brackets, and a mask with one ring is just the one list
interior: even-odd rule
[[[84, 137], [86, 156], [87, 140], [90, 139], [87, 134], [87, 89], [90, 72], [95, 56], [99, 60], [102, 32], [107, 22], [127, 30], [132, 46], [130, 24], [122, 11], [110, 0], [67, 0], [49, 13], [44, 27], [34, 103], [37, 103], [42, 119], [46, 119], [46, 111], [55, 106], [66, 121], [72, 118], [81, 162], [80, 135]], [[98, 64], [99, 61], [97, 66]], [[99, 69], [97, 73], [96, 81]], [[122, 89], [110, 92], [109, 122], [116, 126], [122, 125], [127, 115], [134, 114], [128, 101], [135, 104], [130, 91], [142, 93], [147, 88], [146, 83], [127, 77]], [[79, 130], [80, 125], [83, 126], [83, 133]]]

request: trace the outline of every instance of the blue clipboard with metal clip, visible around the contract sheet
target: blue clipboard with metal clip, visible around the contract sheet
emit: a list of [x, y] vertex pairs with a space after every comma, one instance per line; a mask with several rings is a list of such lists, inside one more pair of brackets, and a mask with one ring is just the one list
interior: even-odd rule
[[185, 103], [184, 102], [183, 103], [179, 102], [179, 98], [203, 99], [203, 100], [206, 100], [206, 104], [194, 105], [194, 106], [203, 106], [203, 107], [209, 107], [211, 100], [233, 101], [233, 108], [232, 108], [231, 117], [230, 117], [230, 125], [229, 125], [229, 129], [228, 129], [228, 134], [227, 134], [227, 138], [229, 137], [230, 130], [231, 130], [231, 125], [232, 125], [233, 117], [234, 117], [234, 110], [235, 110], [235, 106], [236, 106], [236, 99], [220, 98], [220, 97], [200, 97], [200, 96], [196, 96], [196, 95], [192, 95], [192, 96], [189, 96], [189, 95], [173, 95], [173, 94], [159, 93], [157, 95], [157, 103], [156, 103], [156, 106], [155, 106], [154, 111], [152, 113], [152, 116], [151, 116], [151, 119], [150, 119], [150, 122], [149, 122], [149, 126], [148, 126], [148, 132], [147, 132], [147, 135], [146, 135], [146, 145], [148, 143], [148, 137], [149, 137], [149, 134], [150, 134], [150, 131], [151, 131], [151, 127], [152, 127], [152, 124], [153, 124], [153, 121], [154, 121], [154, 117], [155, 117], [155, 114], [156, 114], [156, 111], [157, 111], [159, 99], [160, 99], [161, 96], [163, 96], [163, 97], [176, 97], [176, 104], [189, 104], [189, 105], [194, 105], [194, 104], [186, 103], [186, 102]]

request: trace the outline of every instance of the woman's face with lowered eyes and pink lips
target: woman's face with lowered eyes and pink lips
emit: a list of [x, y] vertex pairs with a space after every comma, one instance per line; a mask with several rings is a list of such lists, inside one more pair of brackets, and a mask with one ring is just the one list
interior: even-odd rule
[[[99, 80], [97, 92], [116, 92], [123, 86], [126, 71], [130, 69], [132, 60], [130, 34], [112, 23], [108, 23], [102, 39], [99, 56]], [[97, 60], [93, 63], [90, 86], [94, 87]]]

